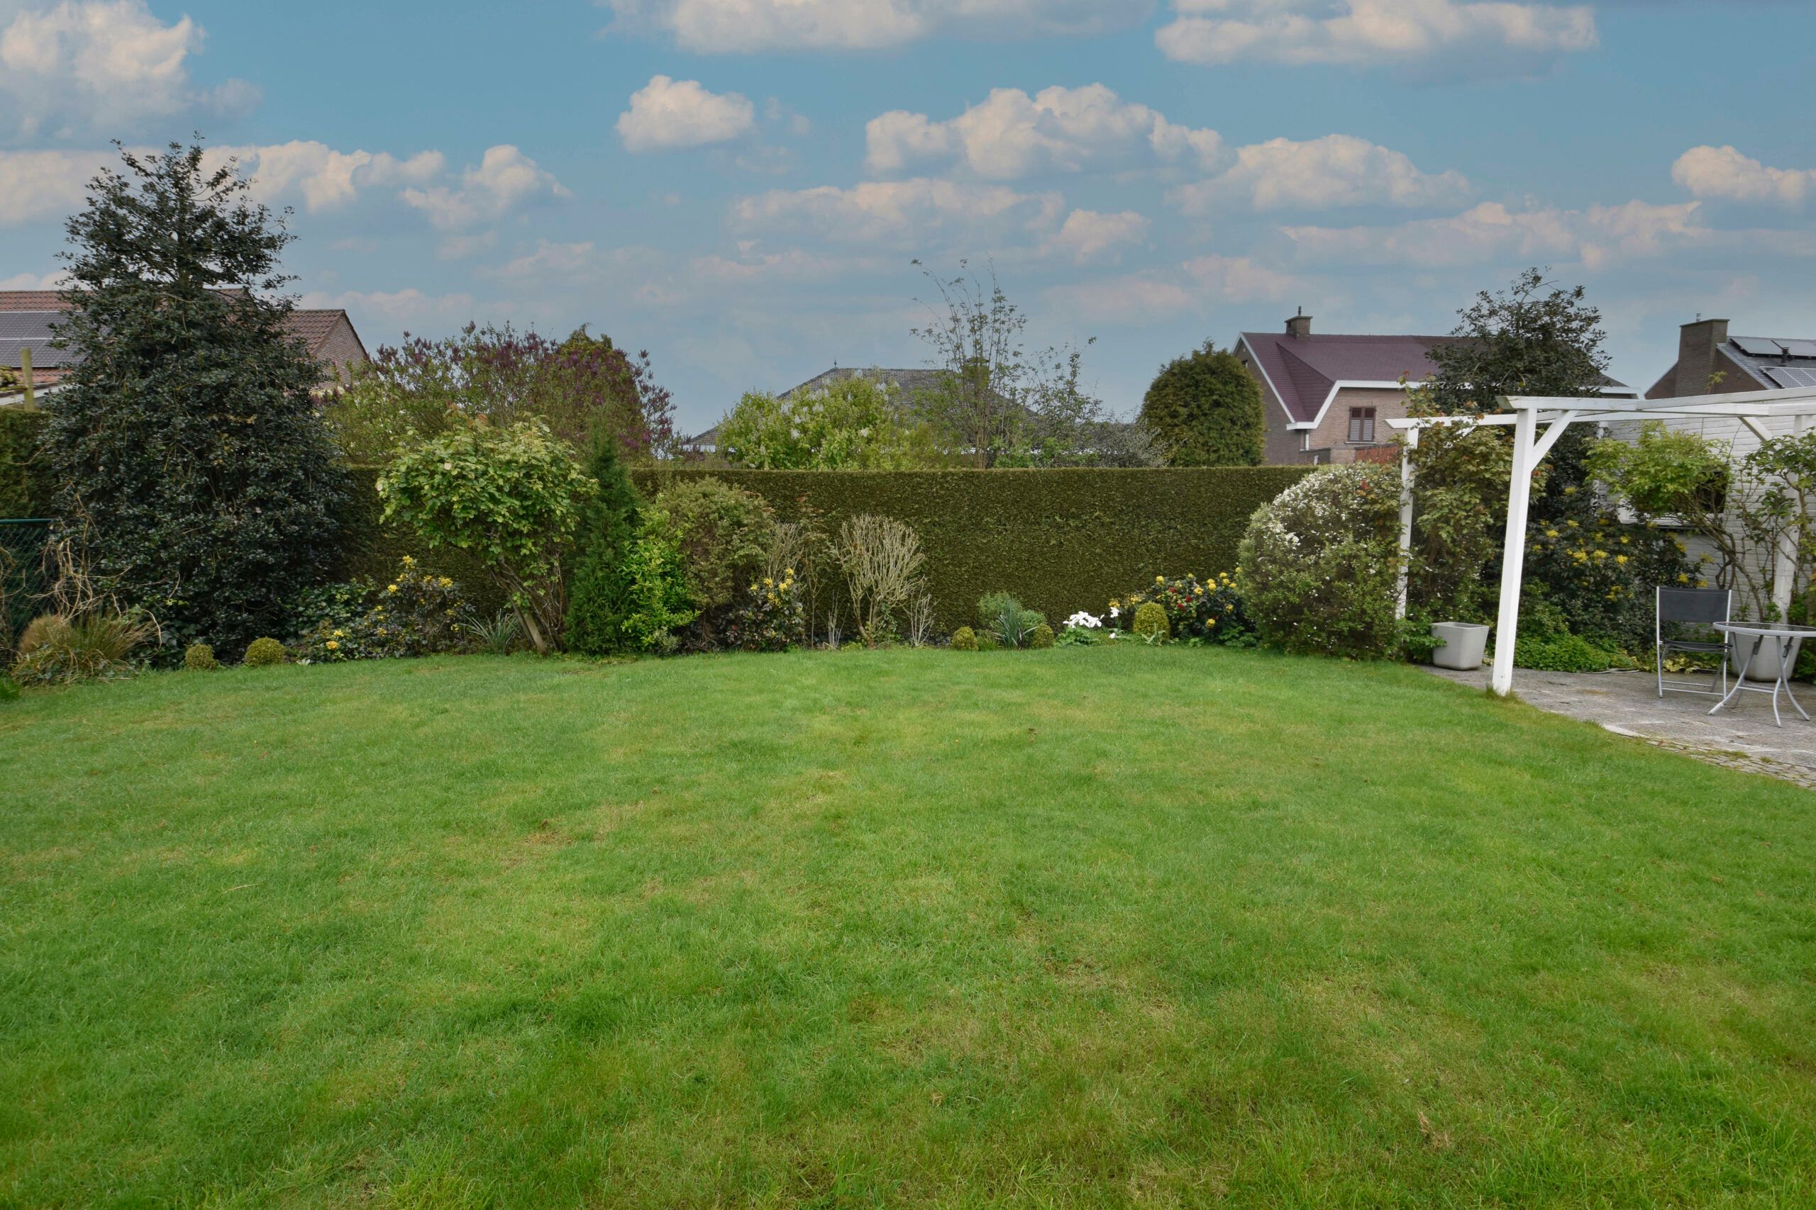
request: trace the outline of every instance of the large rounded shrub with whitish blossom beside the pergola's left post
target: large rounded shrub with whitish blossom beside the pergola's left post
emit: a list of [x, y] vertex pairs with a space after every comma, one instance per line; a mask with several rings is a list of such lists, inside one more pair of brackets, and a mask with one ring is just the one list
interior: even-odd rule
[[1400, 470], [1353, 463], [1255, 510], [1237, 588], [1260, 640], [1378, 660], [1398, 646]]

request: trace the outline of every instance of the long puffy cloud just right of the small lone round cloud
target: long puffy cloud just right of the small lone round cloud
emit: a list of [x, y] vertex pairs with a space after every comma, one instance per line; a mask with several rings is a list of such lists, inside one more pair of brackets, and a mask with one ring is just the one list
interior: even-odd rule
[[892, 111], [870, 120], [864, 140], [875, 172], [897, 172], [915, 160], [957, 158], [992, 180], [1153, 163], [1204, 171], [1222, 152], [1217, 131], [1175, 125], [1102, 83], [1055, 85], [1033, 96], [993, 89], [984, 102], [944, 122]]

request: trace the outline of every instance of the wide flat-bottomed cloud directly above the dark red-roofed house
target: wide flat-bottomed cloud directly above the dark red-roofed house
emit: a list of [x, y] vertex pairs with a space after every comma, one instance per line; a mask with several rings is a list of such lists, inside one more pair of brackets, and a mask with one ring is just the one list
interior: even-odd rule
[[1235, 163], [1208, 181], [1180, 185], [1168, 201], [1208, 214], [1220, 200], [1257, 210], [1324, 210], [1349, 205], [1446, 205], [1469, 196], [1460, 172], [1422, 172], [1404, 152], [1349, 134], [1242, 147]]

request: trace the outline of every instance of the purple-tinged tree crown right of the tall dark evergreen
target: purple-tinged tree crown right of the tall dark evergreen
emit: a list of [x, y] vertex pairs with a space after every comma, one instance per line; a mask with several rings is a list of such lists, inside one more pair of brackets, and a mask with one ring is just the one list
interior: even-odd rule
[[412, 439], [476, 415], [499, 426], [539, 417], [576, 450], [610, 435], [637, 461], [676, 450], [674, 403], [648, 352], [632, 357], [585, 325], [563, 341], [508, 323], [469, 323], [438, 341], [405, 336], [360, 366], [327, 408], [356, 463], [383, 463]]

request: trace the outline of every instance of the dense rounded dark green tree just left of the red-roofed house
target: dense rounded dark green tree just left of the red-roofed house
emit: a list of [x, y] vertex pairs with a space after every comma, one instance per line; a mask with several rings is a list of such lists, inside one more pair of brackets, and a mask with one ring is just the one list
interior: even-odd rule
[[1140, 419], [1171, 450], [1173, 466], [1260, 466], [1268, 437], [1260, 386], [1213, 341], [1160, 366]]

